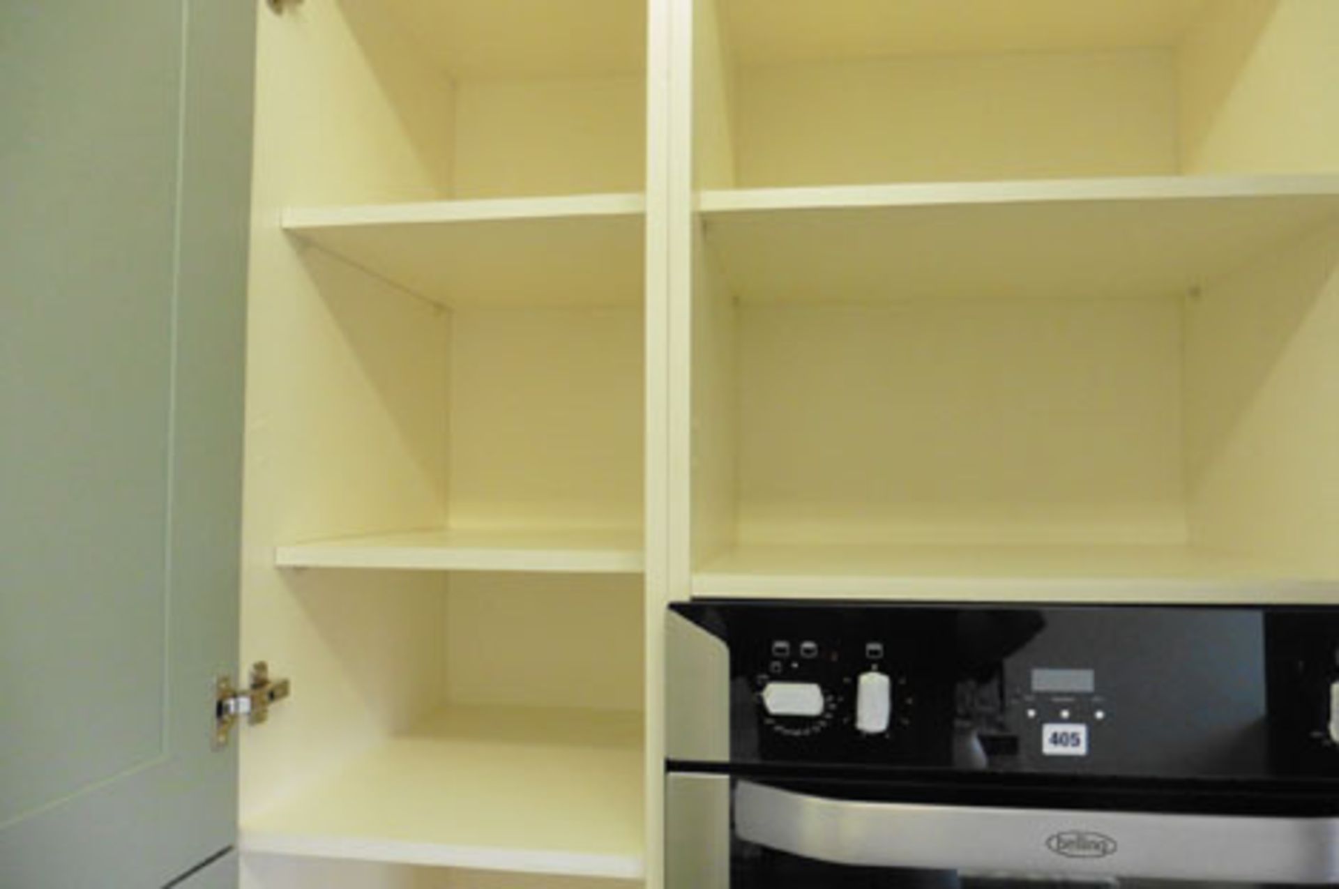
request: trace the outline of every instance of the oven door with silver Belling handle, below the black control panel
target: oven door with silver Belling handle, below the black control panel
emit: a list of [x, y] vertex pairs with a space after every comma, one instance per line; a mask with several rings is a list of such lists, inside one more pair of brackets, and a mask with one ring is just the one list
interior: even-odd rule
[[665, 790], [667, 889], [1339, 886], [1336, 818], [873, 802], [718, 774]]

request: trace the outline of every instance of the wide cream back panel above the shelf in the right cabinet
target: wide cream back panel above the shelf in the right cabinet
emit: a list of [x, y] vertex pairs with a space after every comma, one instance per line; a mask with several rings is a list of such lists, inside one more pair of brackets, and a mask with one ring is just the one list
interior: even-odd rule
[[740, 186], [1176, 170], [1170, 51], [740, 68]]

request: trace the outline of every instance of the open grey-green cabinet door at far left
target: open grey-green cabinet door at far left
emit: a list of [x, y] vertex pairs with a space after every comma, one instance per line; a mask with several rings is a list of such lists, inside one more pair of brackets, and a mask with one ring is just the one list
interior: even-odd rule
[[256, 4], [0, 4], [0, 885], [236, 834]]

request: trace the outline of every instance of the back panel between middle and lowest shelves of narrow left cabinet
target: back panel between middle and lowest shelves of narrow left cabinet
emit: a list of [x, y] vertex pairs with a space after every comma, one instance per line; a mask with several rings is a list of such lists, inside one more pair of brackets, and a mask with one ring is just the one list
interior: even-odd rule
[[459, 573], [446, 617], [454, 704], [641, 708], [641, 578]]

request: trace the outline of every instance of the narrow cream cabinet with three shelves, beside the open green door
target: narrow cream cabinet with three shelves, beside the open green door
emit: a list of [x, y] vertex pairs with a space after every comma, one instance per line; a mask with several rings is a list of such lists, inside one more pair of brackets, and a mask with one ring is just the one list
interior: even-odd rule
[[257, 82], [244, 884], [635, 885], [648, 8], [283, 4]]

